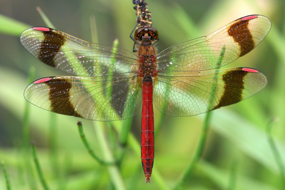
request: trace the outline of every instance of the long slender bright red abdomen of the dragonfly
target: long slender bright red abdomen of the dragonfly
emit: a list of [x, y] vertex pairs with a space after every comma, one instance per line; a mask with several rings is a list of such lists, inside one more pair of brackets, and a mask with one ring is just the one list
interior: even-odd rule
[[150, 77], [142, 81], [142, 136], [141, 159], [146, 183], [150, 182], [154, 158], [153, 136], [153, 81]]

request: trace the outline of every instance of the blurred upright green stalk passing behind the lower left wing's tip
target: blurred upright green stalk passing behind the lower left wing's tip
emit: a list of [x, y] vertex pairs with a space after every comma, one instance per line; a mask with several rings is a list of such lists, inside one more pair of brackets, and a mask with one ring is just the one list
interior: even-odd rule
[[[28, 84], [31, 84], [34, 81], [34, 73], [35, 68], [31, 67], [29, 70], [29, 78], [28, 78]], [[25, 110], [24, 110], [24, 120], [23, 120], [23, 144], [24, 144], [24, 165], [26, 166], [26, 173], [28, 178], [28, 183], [30, 186], [30, 189], [36, 190], [37, 186], [34, 183], [34, 172], [32, 169], [32, 163], [30, 161], [30, 148], [29, 148], [29, 142], [30, 142], [30, 126], [29, 126], [29, 115], [30, 115], [30, 103], [25, 100]]]

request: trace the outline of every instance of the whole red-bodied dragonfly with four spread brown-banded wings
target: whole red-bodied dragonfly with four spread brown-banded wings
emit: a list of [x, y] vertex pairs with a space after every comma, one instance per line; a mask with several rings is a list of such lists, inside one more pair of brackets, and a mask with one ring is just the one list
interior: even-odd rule
[[147, 183], [154, 160], [153, 104], [165, 115], [192, 116], [256, 94], [267, 84], [264, 74], [220, 67], [250, 52], [270, 29], [267, 17], [244, 16], [157, 54], [158, 31], [152, 26], [135, 30], [137, 53], [47, 27], [29, 28], [20, 37], [24, 47], [43, 63], [76, 76], [36, 80], [24, 97], [54, 113], [97, 121], [127, 119], [142, 110], [141, 160]]

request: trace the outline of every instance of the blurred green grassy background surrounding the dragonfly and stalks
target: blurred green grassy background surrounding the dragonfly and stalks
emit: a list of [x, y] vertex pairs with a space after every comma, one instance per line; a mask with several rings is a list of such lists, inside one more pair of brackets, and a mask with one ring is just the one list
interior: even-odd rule
[[[0, 160], [5, 162], [12, 189], [43, 189], [30, 148], [25, 148], [24, 113], [28, 105], [30, 139], [50, 189], [285, 189], [285, 1], [188, 1], [146, 0], [153, 16], [153, 27], [160, 35], [158, 52], [192, 38], [200, 37], [250, 14], [262, 14], [272, 22], [268, 36], [252, 52], [226, 67], [252, 67], [263, 72], [268, 85], [255, 96], [235, 105], [215, 110], [204, 151], [193, 172], [185, 176], [198, 143], [206, 114], [193, 117], [155, 114], [155, 161], [151, 184], [145, 184], [140, 160], [141, 116], [116, 122], [93, 122], [56, 115], [29, 105], [24, 99], [28, 72], [35, 68], [33, 80], [67, 75], [34, 58], [19, 41], [21, 32], [30, 26], [46, 26], [36, 10], [41, 7], [54, 26], [63, 32], [91, 41], [90, 16], [96, 19], [98, 43], [132, 50], [130, 31], [136, 23], [131, 0], [97, 1], [0, 1]], [[10, 20], [11, 19], [11, 20]], [[27, 118], [27, 117], [26, 117]], [[271, 123], [274, 156], [266, 132]], [[119, 173], [100, 165], [80, 140], [77, 120], [83, 123], [91, 148], [100, 157], [101, 132], [115, 158], [122, 158]], [[120, 145], [121, 128], [128, 128], [126, 146]], [[159, 130], [158, 130], [159, 129]], [[113, 136], [113, 138], [112, 138]], [[272, 140], [272, 139], [271, 139]], [[276, 153], [276, 151], [275, 151]], [[114, 166], [117, 168], [116, 166]], [[283, 176], [283, 177], [282, 177]], [[119, 179], [120, 188], [116, 185]], [[120, 180], [122, 179], [122, 180]], [[114, 182], [115, 180], [115, 182]], [[5, 189], [0, 171], [0, 189]]]

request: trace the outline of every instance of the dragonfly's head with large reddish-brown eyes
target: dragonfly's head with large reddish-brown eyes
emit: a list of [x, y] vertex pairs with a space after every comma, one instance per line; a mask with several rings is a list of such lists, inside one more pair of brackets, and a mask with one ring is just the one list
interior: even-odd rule
[[153, 43], [158, 40], [158, 32], [153, 27], [139, 27], [135, 31], [136, 42]]

